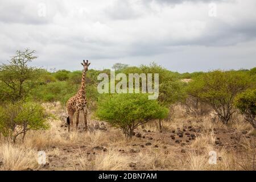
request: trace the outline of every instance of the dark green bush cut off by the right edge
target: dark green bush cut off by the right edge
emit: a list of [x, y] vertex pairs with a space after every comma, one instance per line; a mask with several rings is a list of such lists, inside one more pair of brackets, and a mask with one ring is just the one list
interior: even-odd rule
[[245, 115], [245, 120], [256, 129], [256, 89], [249, 89], [238, 94], [234, 105]]

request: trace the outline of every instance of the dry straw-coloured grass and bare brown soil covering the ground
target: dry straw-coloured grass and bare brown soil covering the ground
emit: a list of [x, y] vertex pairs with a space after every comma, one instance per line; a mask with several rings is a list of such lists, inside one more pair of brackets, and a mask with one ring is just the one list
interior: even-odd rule
[[[50, 107], [50, 110], [52, 108]], [[118, 129], [108, 126], [108, 131], [90, 130], [64, 131], [63, 121], [50, 121], [51, 129], [47, 131], [32, 131], [26, 136], [24, 143], [8, 144], [0, 142], [0, 169], [24, 170], [47, 169], [39, 166], [37, 152], [47, 153], [49, 169], [55, 170], [255, 170], [255, 143], [250, 142], [241, 134], [242, 131], [253, 133], [250, 125], [234, 120], [229, 126], [222, 126], [214, 122], [209, 116], [201, 118], [185, 117], [182, 106], [173, 108], [174, 114], [170, 121], [164, 121], [164, 131], [170, 135], [177, 127], [200, 127], [201, 133], [189, 145], [181, 147], [170, 144], [171, 139], [166, 136], [164, 142], [158, 140], [133, 138], [127, 141]], [[61, 108], [53, 111], [56, 115], [63, 115]], [[240, 116], [237, 116], [240, 118]], [[90, 126], [98, 121], [91, 120]], [[106, 123], [105, 123], [106, 125]], [[233, 131], [232, 144], [243, 147], [242, 152], [233, 148], [217, 147], [214, 129], [221, 128]], [[138, 131], [150, 130], [151, 134], [158, 134], [158, 121], [147, 123], [139, 127]], [[143, 143], [144, 141], [144, 143]], [[152, 146], [141, 147], [145, 142]], [[253, 141], [255, 142], [255, 141]], [[136, 145], [134, 145], [136, 144]], [[158, 144], [158, 147], [154, 147]], [[94, 150], [94, 147], [107, 148], [106, 151]], [[181, 149], [183, 152], [181, 152]], [[130, 152], [138, 150], [138, 153]], [[217, 164], [209, 164], [209, 152], [216, 151]], [[242, 157], [241, 157], [242, 156]], [[51, 166], [52, 165], [52, 166]]]

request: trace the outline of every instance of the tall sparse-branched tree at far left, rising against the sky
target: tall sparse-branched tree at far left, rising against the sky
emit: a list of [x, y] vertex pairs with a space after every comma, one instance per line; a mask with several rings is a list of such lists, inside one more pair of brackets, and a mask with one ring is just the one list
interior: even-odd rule
[[0, 96], [3, 101], [16, 102], [28, 95], [39, 77], [39, 69], [29, 67], [36, 59], [35, 51], [16, 51], [9, 64], [0, 65]]

